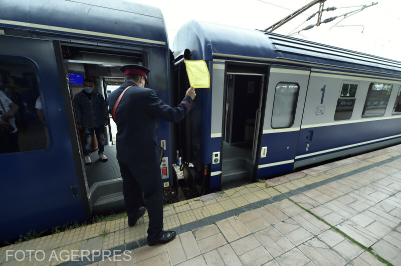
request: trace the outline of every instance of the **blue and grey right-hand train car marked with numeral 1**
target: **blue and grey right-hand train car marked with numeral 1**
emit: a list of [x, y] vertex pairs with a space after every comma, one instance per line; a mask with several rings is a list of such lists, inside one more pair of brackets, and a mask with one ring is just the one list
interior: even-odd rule
[[[171, 50], [178, 72], [204, 59], [211, 75], [183, 125], [194, 185], [218, 190], [401, 142], [401, 62], [197, 21]], [[177, 80], [184, 89], [183, 71]]]

